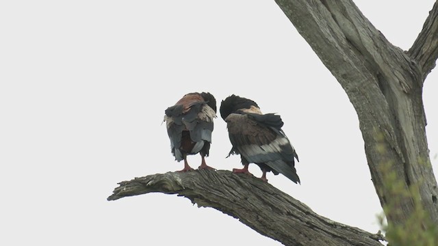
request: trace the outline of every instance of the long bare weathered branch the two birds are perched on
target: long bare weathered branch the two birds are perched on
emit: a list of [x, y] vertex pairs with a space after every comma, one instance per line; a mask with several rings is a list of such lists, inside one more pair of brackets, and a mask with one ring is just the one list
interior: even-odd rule
[[378, 245], [371, 234], [317, 215], [271, 184], [245, 174], [219, 170], [167, 172], [120, 182], [107, 200], [161, 192], [188, 197], [198, 206], [239, 219], [253, 230], [284, 245]]

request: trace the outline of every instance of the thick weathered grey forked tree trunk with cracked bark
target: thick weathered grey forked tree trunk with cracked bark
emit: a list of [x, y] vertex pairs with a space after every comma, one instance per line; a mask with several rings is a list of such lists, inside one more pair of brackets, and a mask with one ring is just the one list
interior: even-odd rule
[[357, 111], [365, 153], [381, 204], [396, 201], [402, 213], [387, 213], [402, 225], [413, 200], [394, 200], [381, 169], [389, 165], [409, 193], [419, 185], [422, 206], [438, 224], [437, 181], [426, 139], [424, 78], [438, 56], [437, 3], [411, 51], [385, 39], [351, 0], [276, 0], [337, 81]]

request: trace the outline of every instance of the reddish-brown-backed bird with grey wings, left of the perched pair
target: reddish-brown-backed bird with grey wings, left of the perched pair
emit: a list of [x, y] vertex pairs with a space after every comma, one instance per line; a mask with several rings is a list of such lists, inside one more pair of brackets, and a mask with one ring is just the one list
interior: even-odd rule
[[216, 98], [209, 92], [185, 94], [164, 111], [172, 155], [178, 162], [184, 160], [184, 168], [178, 172], [194, 170], [187, 156], [198, 153], [201, 154], [198, 169], [214, 169], [205, 163], [205, 156], [209, 155], [216, 117]]

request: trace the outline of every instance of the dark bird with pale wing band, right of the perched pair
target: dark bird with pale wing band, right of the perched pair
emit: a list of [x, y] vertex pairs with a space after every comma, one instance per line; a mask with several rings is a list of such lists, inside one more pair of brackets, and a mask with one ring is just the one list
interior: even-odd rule
[[296, 174], [298, 154], [281, 129], [283, 120], [276, 113], [261, 113], [257, 103], [232, 94], [220, 103], [220, 116], [227, 122], [232, 148], [231, 154], [240, 154], [242, 169], [236, 174], [250, 174], [248, 165], [255, 163], [263, 172], [261, 180], [268, 182], [267, 172], [283, 174], [294, 183], [300, 183]]

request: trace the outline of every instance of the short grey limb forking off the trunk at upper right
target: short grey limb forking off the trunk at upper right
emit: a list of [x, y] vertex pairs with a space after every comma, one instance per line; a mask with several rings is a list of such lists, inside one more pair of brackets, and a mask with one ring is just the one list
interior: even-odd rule
[[435, 61], [438, 59], [438, 1], [430, 10], [423, 29], [408, 54], [417, 61], [424, 78], [435, 68]]

